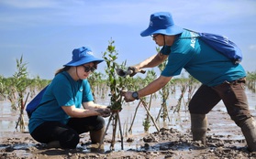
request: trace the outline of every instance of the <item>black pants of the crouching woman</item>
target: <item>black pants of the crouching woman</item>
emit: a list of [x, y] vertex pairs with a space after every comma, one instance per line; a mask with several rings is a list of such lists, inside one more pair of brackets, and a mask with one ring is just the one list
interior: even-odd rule
[[79, 134], [98, 131], [104, 126], [105, 120], [101, 116], [71, 118], [67, 124], [44, 122], [31, 133], [31, 136], [39, 143], [59, 141], [62, 148], [73, 149], [79, 143]]

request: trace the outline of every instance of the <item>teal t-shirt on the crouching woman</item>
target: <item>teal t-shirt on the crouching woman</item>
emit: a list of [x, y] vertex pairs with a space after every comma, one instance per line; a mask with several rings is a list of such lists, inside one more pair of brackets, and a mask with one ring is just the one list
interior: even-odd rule
[[72, 80], [66, 71], [55, 76], [45, 91], [40, 106], [29, 119], [28, 130], [33, 132], [41, 123], [55, 121], [66, 124], [70, 118], [61, 106], [75, 105], [81, 108], [82, 103], [94, 101], [88, 80]]

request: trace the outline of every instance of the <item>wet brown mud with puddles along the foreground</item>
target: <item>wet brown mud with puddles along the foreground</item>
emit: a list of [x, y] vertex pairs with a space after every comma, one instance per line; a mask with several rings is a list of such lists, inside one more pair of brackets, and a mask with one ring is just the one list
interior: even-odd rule
[[[133, 139], [139, 140], [136, 147], [127, 150], [98, 149], [98, 145], [83, 143], [86, 142], [84, 139], [75, 150], [62, 150], [49, 149], [44, 144], [36, 143], [28, 133], [15, 133], [14, 137], [5, 138], [1, 143], [0, 158], [256, 158], [256, 153], [248, 152], [243, 139], [228, 138], [225, 135], [207, 135], [207, 143], [203, 145], [191, 141], [189, 132], [161, 128], [160, 132]], [[125, 141], [125, 146], [128, 143], [129, 141]], [[105, 140], [105, 146], [107, 144], [110, 144], [110, 139]], [[116, 146], [119, 144], [116, 143]]]

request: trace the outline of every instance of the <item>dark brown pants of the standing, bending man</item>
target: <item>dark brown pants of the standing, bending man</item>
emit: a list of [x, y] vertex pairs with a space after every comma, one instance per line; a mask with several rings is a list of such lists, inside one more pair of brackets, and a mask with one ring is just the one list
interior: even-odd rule
[[226, 81], [215, 87], [202, 85], [189, 103], [190, 113], [206, 114], [222, 100], [228, 114], [241, 127], [243, 122], [251, 117], [245, 94], [245, 78]]

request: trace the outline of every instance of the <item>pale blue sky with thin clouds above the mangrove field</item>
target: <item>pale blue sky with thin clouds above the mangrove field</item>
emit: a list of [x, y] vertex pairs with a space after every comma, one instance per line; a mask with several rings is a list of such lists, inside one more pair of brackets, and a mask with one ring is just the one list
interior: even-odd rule
[[118, 63], [137, 64], [156, 53], [151, 37], [139, 34], [161, 11], [177, 26], [229, 37], [244, 69], [256, 71], [255, 0], [0, 0], [0, 75], [12, 77], [23, 56], [29, 78], [50, 80], [72, 49], [89, 47], [102, 58], [111, 39]]

